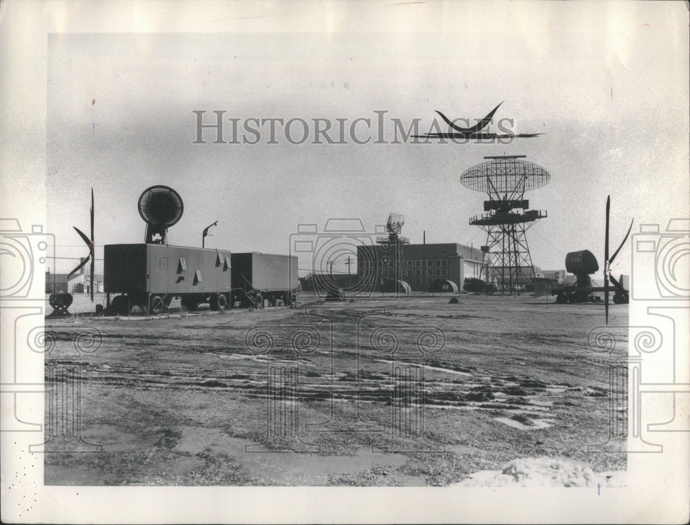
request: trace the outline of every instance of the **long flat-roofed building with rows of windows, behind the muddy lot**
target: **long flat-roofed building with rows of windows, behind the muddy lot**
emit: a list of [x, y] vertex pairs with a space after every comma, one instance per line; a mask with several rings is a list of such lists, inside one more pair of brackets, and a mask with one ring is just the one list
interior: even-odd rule
[[[386, 244], [357, 247], [359, 282], [380, 285], [394, 264]], [[482, 251], [457, 243], [408, 244], [402, 247], [400, 279], [413, 291], [428, 291], [436, 280], [450, 280], [462, 289], [465, 278], [480, 278]]]

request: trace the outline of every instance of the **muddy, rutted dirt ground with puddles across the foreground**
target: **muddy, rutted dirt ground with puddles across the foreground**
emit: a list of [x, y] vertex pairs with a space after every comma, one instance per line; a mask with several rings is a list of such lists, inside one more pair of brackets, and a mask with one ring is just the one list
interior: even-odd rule
[[[48, 317], [45, 482], [445, 486], [524, 480], [530, 464], [568, 471], [566, 486], [620, 475], [624, 454], [587, 451], [625, 418], [612, 356], [587, 344], [603, 305], [450, 298]], [[627, 305], [609, 323], [627, 325]]]

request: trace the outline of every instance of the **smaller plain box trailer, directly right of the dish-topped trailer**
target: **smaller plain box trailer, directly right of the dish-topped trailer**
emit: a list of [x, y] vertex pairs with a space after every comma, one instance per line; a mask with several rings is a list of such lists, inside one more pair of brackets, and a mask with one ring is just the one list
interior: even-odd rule
[[257, 251], [232, 254], [233, 289], [230, 305], [261, 308], [289, 306], [297, 300], [299, 279], [297, 257], [261, 254]]

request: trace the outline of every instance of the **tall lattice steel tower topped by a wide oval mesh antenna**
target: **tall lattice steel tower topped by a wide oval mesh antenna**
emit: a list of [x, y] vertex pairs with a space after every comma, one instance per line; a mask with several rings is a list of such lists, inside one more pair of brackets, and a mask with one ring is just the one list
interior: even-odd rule
[[529, 209], [524, 193], [549, 183], [551, 175], [540, 165], [522, 161], [524, 155], [484, 157], [486, 162], [460, 175], [464, 187], [486, 193], [484, 214], [470, 218], [470, 224], [486, 231], [484, 279], [497, 289], [519, 294], [534, 277], [525, 232], [540, 218], [542, 210]]

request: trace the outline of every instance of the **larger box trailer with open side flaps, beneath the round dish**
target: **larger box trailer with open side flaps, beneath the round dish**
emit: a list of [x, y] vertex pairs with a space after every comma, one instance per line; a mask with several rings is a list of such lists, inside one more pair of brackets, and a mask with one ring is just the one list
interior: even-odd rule
[[[208, 302], [212, 310], [229, 308], [230, 257], [230, 251], [219, 249], [151, 243], [106, 245], [106, 309], [123, 314], [137, 306], [160, 313], [173, 298], [179, 298], [188, 310], [202, 302]], [[120, 295], [110, 302], [110, 294]]]

